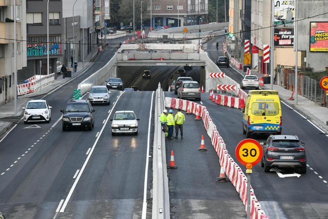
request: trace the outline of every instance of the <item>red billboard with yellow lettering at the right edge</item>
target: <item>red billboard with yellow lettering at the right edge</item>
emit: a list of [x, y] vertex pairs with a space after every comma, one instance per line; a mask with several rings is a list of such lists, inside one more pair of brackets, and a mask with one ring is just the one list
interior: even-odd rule
[[328, 22], [310, 22], [310, 52], [328, 52]]

